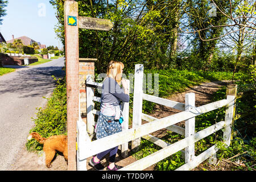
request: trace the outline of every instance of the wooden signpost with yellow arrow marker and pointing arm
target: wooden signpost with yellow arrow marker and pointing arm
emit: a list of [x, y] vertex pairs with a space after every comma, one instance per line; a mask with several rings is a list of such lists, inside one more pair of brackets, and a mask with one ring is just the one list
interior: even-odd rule
[[67, 77], [68, 170], [76, 170], [76, 122], [79, 119], [79, 28], [109, 31], [110, 20], [78, 16], [78, 3], [64, 2]]

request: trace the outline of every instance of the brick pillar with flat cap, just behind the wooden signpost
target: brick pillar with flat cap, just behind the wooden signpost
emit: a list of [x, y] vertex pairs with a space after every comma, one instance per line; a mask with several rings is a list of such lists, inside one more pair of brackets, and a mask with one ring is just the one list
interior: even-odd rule
[[79, 92], [80, 92], [80, 114], [82, 121], [86, 123], [86, 76], [94, 75], [94, 61], [93, 58], [79, 59]]

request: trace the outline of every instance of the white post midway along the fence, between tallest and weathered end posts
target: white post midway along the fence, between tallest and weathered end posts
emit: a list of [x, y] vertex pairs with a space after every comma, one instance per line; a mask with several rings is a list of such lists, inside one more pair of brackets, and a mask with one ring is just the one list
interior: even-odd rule
[[[195, 93], [185, 94], [185, 111], [189, 111], [195, 107]], [[189, 137], [195, 133], [195, 117], [185, 121], [185, 137]], [[191, 162], [195, 157], [195, 143], [191, 143], [185, 148], [185, 163]]]

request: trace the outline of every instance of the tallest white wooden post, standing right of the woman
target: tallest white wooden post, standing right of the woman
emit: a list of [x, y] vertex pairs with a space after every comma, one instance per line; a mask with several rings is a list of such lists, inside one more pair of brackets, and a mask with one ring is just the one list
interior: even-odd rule
[[[143, 94], [143, 64], [135, 65], [134, 95], [133, 95], [133, 128], [141, 126], [142, 122], [142, 94]], [[131, 149], [136, 151], [141, 144], [141, 137], [131, 142]]]

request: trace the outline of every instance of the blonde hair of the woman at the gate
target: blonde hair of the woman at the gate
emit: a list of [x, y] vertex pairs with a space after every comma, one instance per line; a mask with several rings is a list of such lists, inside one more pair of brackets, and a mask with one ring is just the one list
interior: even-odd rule
[[112, 77], [117, 81], [118, 85], [121, 85], [122, 69], [125, 67], [120, 61], [110, 61], [107, 69], [107, 76]]

